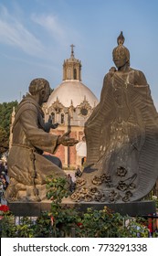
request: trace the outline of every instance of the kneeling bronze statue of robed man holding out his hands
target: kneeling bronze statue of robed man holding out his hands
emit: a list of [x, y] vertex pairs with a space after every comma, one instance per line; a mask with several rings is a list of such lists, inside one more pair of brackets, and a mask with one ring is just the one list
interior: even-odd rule
[[[68, 133], [63, 136], [47, 133], [41, 106], [50, 95], [47, 80], [35, 79], [29, 93], [20, 102], [13, 124], [13, 144], [8, 157], [10, 184], [7, 201], [40, 201], [46, 197], [46, 176], [65, 176], [64, 171], [47, 160], [44, 151], [54, 154], [59, 144], [77, 144]], [[47, 131], [47, 132], [46, 132]]]

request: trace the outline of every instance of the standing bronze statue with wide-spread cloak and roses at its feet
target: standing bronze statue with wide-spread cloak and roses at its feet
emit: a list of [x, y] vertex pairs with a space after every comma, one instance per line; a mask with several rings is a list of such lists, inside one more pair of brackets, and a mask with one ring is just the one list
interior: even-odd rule
[[130, 67], [130, 52], [117, 38], [100, 103], [85, 123], [87, 166], [75, 201], [129, 202], [153, 188], [158, 176], [158, 114], [147, 80]]

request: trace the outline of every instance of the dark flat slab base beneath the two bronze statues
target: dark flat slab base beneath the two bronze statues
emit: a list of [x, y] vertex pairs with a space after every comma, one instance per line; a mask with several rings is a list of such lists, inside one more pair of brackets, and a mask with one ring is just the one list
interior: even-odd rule
[[[131, 203], [97, 203], [97, 202], [72, 202], [70, 199], [65, 198], [62, 205], [67, 205], [70, 208], [78, 208], [79, 211], [85, 212], [87, 208], [102, 209], [104, 206], [111, 208], [114, 212], [119, 212], [122, 216], [147, 216], [148, 214], [156, 213], [154, 201], [137, 201]], [[8, 207], [15, 216], [40, 216], [42, 211], [51, 209], [51, 201], [42, 202], [13, 202], [8, 203]]]

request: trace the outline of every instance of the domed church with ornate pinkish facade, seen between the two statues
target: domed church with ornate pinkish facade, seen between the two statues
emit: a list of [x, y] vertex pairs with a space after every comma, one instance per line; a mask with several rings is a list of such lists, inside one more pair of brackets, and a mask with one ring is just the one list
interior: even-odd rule
[[[93, 92], [81, 81], [81, 61], [75, 59], [74, 46], [71, 45], [70, 58], [63, 63], [63, 80], [43, 106], [45, 122], [51, 119], [52, 123], [59, 123], [58, 128], [51, 129], [50, 133], [62, 135], [71, 131], [70, 137], [80, 142], [84, 136], [84, 123], [98, 102]], [[59, 145], [56, 156], [64, 167], [77, 166], [76, 146]]]

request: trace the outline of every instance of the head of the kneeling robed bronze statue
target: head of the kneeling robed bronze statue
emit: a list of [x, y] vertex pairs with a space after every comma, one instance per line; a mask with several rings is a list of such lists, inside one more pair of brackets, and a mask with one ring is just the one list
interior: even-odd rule
[[32, 80], [28, 89], [31, 95], [36, 96], [38, 94], [40, 96], [40, 101], [42, 102], [47, 102], [51, 92], [48, 81], [41, 78]]

